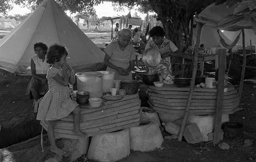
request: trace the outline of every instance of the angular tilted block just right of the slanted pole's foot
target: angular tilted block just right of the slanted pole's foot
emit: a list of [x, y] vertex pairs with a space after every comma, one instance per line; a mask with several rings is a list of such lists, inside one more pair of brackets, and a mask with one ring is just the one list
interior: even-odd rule
[[203, 136], [197, 124], [186, 126], [184, 128], [183, 136], [189, 144], [196, 144], [203, 141]]

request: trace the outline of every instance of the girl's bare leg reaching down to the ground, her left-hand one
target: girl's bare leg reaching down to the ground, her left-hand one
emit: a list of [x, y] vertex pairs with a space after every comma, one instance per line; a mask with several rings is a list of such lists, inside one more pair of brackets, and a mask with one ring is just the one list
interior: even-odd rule
[[54, 127], [56, 125], [56, 121], [49, 121], [49, 125], [48, 125], [48, 138], [49, 138], [49, 142], [50, 142], [50, 150], [58, 155], [63, 155], [65, 153], [65, 151], [63, 151], [62, 149], [58, 148], [56, 143], [55, 143], [55, 135], [54, 135]]

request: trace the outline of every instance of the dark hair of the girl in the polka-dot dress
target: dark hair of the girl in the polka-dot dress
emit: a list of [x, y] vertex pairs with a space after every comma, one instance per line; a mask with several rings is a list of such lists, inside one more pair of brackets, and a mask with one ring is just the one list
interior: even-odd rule
[[68, 50], [65, 46], [54, 43], [49, 47], [47, 51], [46, 62], [53, 64], [55, 61], [58, 62], [63, 55], [67, 56], [68, 54]]

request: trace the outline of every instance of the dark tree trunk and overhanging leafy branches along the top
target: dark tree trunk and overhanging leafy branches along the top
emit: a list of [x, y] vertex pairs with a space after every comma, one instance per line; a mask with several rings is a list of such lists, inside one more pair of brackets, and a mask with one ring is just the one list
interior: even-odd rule
[[[31, 8], [37, 7], [43, 0], [0, 0], [0, 11], [6, 13], [12, 8], [15, 3], [20, 6], [29, 6]], [[208, 5], [215, 3], [215, 5], [223, 4], [226, 2], [227, 7], [231, 7], [238, 3], [240, 5], [239, 11], [247, 14], [247, 8], [253, 9], [256, 6], [255, 0], [55, 0], [64, 10], [70, 10], [71, 13], [90, 13], [93, 12], [93, 6], [103, 3], [103, 1], [112, 2], [114, 9], [122, 7], [133, 8], [140, 7], [140, 12], [154, 11], [157, 13], [158, 18], [161, 19], [166, 37], [172, 40], [177, 47], [183, 51], [191, 45], [191, 31], [189, 29], [190, 20], [194, 19], [195, 12], [200, 13]], [[256, 8], [256, 7], [255, 7]], [[250, 10], [251, 11], [251, 10]], [[245, 13], [244, 13], [245, 12]], [[256, 18], [255, 18], [256, 19]], [[253, 20], [255, 20], [253, 19]], [[236, 21], [238, 19], [235, 19]], [[229, 22], [229, 19], [227, 20]], [[255, 20], [256, 22], [256, 20]], [[256, 24], [256, 23], [255, 23]]]

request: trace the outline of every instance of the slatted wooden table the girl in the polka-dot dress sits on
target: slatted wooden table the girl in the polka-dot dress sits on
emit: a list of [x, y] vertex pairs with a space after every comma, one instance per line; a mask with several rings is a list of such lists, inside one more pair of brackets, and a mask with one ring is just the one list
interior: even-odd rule
[[[89, 136], [100, 135], [124, 128], [138, 126], [141, 118], [139, 95], [125, 95], [117, 101], [103, 100], [104, 106], [99, 108], [89, 105], [80, 106], [80, 130], [87, 132]], [[48, 122], [40, 124], [47, 130]], [[73, 132], [73, 114], [56, 122], [55, 136], [65, 138], [80, 138]]]

